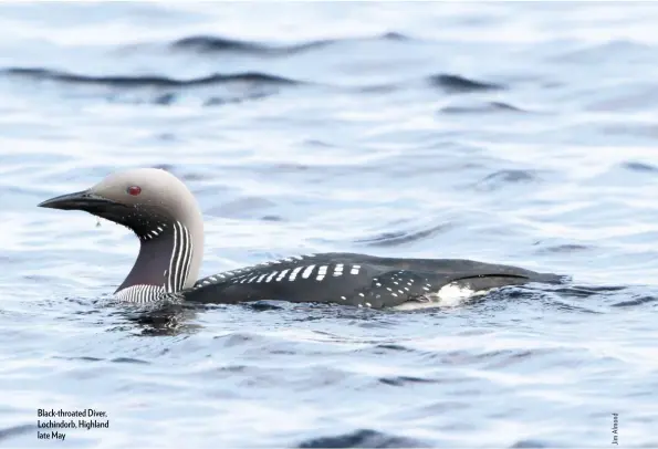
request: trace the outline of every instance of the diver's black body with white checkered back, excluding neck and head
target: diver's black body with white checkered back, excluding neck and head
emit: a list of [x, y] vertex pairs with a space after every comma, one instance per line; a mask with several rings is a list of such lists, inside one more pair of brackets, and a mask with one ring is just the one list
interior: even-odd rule
[[406, 303], [446, 305], [503, 285], [558, 280], [552, 274], [468, 260], [325, 253], [219, 273], [181, 293], [188, 301], [200, 302], [279, 300], [382, 309]]

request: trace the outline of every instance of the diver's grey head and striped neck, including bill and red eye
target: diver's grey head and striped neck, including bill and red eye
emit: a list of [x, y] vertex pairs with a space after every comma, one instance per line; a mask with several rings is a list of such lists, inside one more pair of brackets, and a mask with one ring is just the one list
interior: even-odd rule
[[203, 255], [203, 219], [189, 189], [174, 175], [137, 168], [95, 186], [45, 200], [40, 207], [83, 210], [133, 230], [139, 254], [117, 295], [146, 301], [194, 285]]

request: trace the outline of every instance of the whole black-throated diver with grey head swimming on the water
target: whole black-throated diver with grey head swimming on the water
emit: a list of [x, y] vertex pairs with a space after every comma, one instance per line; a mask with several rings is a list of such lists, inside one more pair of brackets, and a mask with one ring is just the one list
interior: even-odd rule
[[156, 168], [115, 173], [87, 190], [39, 206], [84, 210], [135, 232], [139, 254], [115, 292], [118, 300], [128, 302], [280, 300], [405, 309], [440, 305], [504, 285], [562, 280], [556, 274], [461, 259], [338, 252], [291, 257], [197, 280], [203, 254], [201, 211], [185, 184]]

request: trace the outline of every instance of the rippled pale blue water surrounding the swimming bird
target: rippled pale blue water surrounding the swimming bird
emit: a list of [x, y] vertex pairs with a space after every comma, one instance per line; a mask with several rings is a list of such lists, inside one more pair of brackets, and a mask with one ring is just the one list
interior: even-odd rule
[[[0, 443], [656, 447], [658, 7], [0, 6]], [[304, 252], [573, 276], [424, 312], [107, 304], [127, 167], [199, 198], [202, 274]], [[617, 434], [613, 434], [617, 415]]]

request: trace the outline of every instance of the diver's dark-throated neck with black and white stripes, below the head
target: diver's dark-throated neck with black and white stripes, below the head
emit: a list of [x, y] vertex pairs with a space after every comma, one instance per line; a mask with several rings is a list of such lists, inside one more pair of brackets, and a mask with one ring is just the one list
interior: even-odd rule
[[191, 286], [203, 251], [202, 237], [195, 236], [195, 227], [169, 221], [140, 232], [137, 260], [115, 293], [135, 285], [149, 285], [168, 293]]

